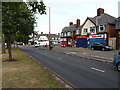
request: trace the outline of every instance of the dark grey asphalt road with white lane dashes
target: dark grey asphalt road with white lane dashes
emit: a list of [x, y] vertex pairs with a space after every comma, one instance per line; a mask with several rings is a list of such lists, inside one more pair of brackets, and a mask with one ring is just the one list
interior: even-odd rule
[[20, 47], [76, 88], [118, 88], [118, 72], [112, 64], [34, 47]]

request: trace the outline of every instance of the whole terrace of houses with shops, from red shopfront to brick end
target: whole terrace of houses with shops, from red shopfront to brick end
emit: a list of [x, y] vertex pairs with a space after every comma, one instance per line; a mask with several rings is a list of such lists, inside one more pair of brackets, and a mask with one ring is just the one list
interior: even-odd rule
[[116, 18], [105, 13], [103, 8], [97, 9], [96, 16], [87, 17], [83, 25], [80, 26], [79, 19], [76, 22], [70, 22], [68, 27], [62, 29], [61, 39], [64, 46], [88, 48], [97, 42], [110, 45], [113, 49], [120, 46]]

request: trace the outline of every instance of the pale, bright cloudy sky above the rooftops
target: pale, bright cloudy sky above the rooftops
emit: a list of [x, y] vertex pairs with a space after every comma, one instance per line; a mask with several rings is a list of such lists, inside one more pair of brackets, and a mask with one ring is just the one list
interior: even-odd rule
[[51, 34], [61, 33], [69, 22], [76, 24], [80, 19], [82, 25], [87, 17], [97, 15], [98, 8], [104, 8], [104, 12], [118, 17], [118, 2], [120, 0], [43, 0], [47, 15], [37, 14], [37, 27], [35, 31], [44, 34], [49, 33], [49, 7], [51, 18]]

